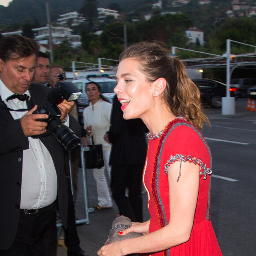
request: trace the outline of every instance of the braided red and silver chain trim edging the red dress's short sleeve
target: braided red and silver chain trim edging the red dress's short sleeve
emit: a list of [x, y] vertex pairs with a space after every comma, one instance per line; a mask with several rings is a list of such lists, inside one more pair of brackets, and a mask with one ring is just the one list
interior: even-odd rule
[[211, 175], [212, 171], [211, 169], [206, 167], [206, 164], [204, 164], [202, 162], [202, 160], [200, 158], [196, 158], [193, 157], [192, 155], [182, 155], [182, 154], [176, 154], [176, 155], [171, 155], [169, 160], [166, 162], [165, 166], [164, 166], [164, 171], [165, 174], [167, 175], [168, 172], [168, 168], [170, 166], [170, 164], [176, 162], [176, 161], [180, 161], [180, 172], [179, 172], [179, 177], [177, 178], [177, 181], [179, 181], [179, 178], [181, 177], [181, 162], [190, 162], [190, 163], [194, 163], [195, 165], [199, 165], [200, 166], [200, 177], [204, 175], [203, 179], [206, 180], [207, 178], [207, 174]]

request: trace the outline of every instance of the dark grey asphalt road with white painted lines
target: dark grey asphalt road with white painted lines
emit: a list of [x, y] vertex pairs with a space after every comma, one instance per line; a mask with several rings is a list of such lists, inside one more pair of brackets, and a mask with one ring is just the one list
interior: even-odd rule
[[[256, 228], [256, 112], [246, 110], [247, 99], [238, 99], [236, 114], [223, 116], [221, 109], [206, 109], [211, 128], [203, 135], [211, 148], [213, 178], [211, 221], [223, 256], [255, 256]], [[95, 181], [87, 170], [89, 207], [97, 203]], [[79, 171], [79, 192], [76, 216], [84, 218], [82, 175]], [[149, 218], [147, 196], [143, 192], [144, 220]], [[77, 226], [81, 248], [90, 256], [105, 243], [117, 207], [90, 213], [90, 224]], [[60, 244], [63, 241], [60, 239]], [[66, 255], [58, 246], [58, 256]]]

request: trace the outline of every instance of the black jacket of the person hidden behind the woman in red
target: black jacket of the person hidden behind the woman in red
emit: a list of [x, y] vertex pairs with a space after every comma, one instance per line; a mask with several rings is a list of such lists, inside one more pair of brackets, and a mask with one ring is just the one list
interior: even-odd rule
[[125, 120], [120, 107], [121, 103], [116, 95], [108, 132], [109, 141], [112, 143], [109, 165], [144, 164], [147, 154], [147, 127], [141, 119]]

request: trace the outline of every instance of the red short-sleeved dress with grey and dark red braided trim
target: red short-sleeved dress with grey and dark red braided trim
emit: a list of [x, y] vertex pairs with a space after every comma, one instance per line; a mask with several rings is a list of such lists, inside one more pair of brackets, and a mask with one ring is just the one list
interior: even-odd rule
[[[148, 194], [151, 215], [149, 232], [169, 222], [169, 183], [167, 170], [173, 162], [191, 162], [200, 166], [199, 195], [192, 233], [186, 243], [151, 256], [222, 256], [210, 220], [211, 151], [202, 134], [182, 117], [170, 122], [160, 138], [149, 140], [143, 183]], [[179, 177], [183, 173], [180, 171]], [[177, 182], [179, 177], [177, 177]]]

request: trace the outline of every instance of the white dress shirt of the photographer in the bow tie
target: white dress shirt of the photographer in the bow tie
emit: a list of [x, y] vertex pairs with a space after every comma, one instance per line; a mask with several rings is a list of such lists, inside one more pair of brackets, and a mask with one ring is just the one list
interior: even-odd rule
[[[26, 109], [26, 102], [15, 98], [6, 102], [13, 93], [0, 80], [0, 95], [11, 109]], [[30, 96], [27, 90], [25, 94]], [[10, 111], [14, 119], [23, 117], [24, 112]], [[40, 139], [28, 137], [29, 149], [23, 151], [21, 183], [21, 209], [37, 209], [50, 205], [57, 196], [57, 175], [53, 159]], [[11, 170], [10, 170], [11, 171]]]

